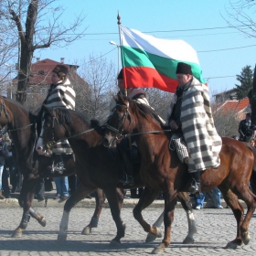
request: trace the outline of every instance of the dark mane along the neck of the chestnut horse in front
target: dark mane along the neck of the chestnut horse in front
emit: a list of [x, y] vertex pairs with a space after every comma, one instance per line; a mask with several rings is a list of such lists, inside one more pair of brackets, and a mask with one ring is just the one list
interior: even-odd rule
[[127, 100], [129, 101], [130, 106], [133, 108], [134, 112], [139, 112], [146, 119], [148, 118], [148, 116], [150, 116], [157, 123], [159, 123], [161, 128], [165, 129], [164, 123], [161, 121], [161, 119], [159, 118], [158, 114], [155, 112], [154, 109], [152, 109], [150, 106], [148, 106], [146, 104], [139, 103], [137, 101], [133, 101], [132, 99], [127, 98]]

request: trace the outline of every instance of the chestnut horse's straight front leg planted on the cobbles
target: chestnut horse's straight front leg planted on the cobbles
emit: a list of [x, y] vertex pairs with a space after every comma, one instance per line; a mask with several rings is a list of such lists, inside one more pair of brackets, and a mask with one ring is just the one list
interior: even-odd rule
[[175, 213], [175, 206], [176, 206], [176, 196], [174, 192], [164, 191], [165, 194], [165, 216], [164, 216], [164, 223], [165, 223], [165, 237], [162, 242], [155, 247], [152, 251], [153, 254], [157, 253], [164, 253], [165, 248], [169, 246], [171, 243], [171, 228], [172, 223], [174, 221], [174, 213]]

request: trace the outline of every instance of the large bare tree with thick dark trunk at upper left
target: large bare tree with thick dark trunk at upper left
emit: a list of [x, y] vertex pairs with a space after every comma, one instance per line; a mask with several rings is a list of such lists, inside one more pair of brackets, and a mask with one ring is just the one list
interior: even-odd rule
[[[84, 32], [77, 32], [84, 16], [75, 17], [65, 26], [61, 17], [62, 6], [53, 5], [56, 0], [2, 0], [0, 16], [12, 37], [14, 31], [20, 43], [20, 59], [16, 100], [24, 103], [27, 97], [27, 82], [34, 51], [51, 46], [64, 47]], [[71, 32], [71, 33], [70, 33]], [[77, 33], [77, 34], [76, 34]]]

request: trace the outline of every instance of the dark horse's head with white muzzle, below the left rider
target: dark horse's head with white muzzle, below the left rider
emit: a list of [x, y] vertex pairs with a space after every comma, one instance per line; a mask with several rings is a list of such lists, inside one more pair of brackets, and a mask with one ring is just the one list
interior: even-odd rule
[[[61, 141], [65, 136], [66, 128], [63, 125], [62, 110], [51, 109], [43, 105], [43, 113], [41, 117], [41, 132], [37, 141], [37, 153], [39, 155], [51, 154], [53, 145]], [[50, 141], [48, 139], [50, 138]]]

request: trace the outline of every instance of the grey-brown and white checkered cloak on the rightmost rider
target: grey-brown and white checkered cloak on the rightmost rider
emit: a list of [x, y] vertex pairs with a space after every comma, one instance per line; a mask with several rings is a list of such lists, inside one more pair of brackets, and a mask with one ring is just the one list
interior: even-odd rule
[[[214, 126], [209, 104], [208, 87], [193, 78], [184, 88], [181, 104], [182, 131], [188, 153], [196, 170], [203, 171], [219, 166], [219, 152], [222, 141]], [[173, 98], [168, 115], [176, 102]]]

